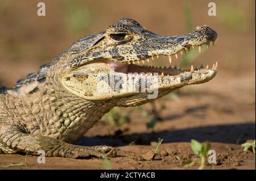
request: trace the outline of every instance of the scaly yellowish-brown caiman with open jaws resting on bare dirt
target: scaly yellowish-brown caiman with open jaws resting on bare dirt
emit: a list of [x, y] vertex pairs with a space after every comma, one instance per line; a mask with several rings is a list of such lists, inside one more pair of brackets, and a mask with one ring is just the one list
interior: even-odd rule
[[[0, 87], [0, 152], [37, 155], [38, 150], [44, 150], [49, 157], [69, 158], [113, 154], [110, 146], [72, 143], [114, 106], [139, 106], [180, 87], [207, 82], [217, 73], [217, 65], [182, 71], [135, 64], [144, 64], [159, 55], [172, 58], [179, 51], [209, 45], [216, 38], [217, 33], [207, 26], [183, 36], [159, 36], [132, 19], [121, 19], [106, 31], [82, 37], [15, 87]], [[98, 87], [102, 83], [100, 77], [110, 77], [110, 68], [115, 68], [114, 75], [163, 72], [155, 75], [158, 96], [148, 99], [148, 92], [128, 92], [123, 82], [118, 89], [105, 82], [108, 91], [102, 91]], [[147, 77], [150, 76], [133, 75], [138, 78], [135, 85], [139, 90], [142, 87], [138, 85]]]

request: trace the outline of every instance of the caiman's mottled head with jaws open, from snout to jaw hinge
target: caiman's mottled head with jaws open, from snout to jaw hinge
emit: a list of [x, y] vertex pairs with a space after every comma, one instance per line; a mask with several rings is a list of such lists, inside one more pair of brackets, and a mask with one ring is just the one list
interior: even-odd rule
[[[143, 66], [158, 57], [167, 61], [191, 47], [208, 47], [217, 33], [208, 26], [182, 36], [159, 36], [133, 19], [121, 19], [105, 31], [82, 37], [52, 63], [51, 75], [67, 91], [86, 100], [115, 100], [115, 106], [137, 106], [180, 87], [204, 83], [217, 73], [212, 68], [180, 70], [176, 66]], [[130, 81], [130, 82], [129, 82]]]

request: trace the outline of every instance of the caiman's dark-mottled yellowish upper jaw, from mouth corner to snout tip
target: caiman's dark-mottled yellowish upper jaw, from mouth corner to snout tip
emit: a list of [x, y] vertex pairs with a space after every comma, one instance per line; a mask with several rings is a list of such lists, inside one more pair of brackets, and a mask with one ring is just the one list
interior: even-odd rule
[[[147, 30], [145, 30], [147, 31]], [[101, 36], [104, 36], [101, 34]], [[100, 36], [100, 37], [101, 37]], [[100, 41], [101, 39], [96, 39]], [[102, 37], [101, 37], [102, 38]], [[178, 53], [185, 53], [197, 46], [199, 52], [201, 45], [209, 47], [210, 42], [214, 44], [217, 39], [217, 33], [208, 26], [196, 27], [196, 30], [183, 36], [159, 36], [150, 31], [143, 32], [130, 42], [120, 45], [108, 46], [102, 44], [97, 47], [82, 51], [70, 62], [72, 68], [96, 60], [110, 60], [114, 62], [127, 62], [129, 64], [135, 61], [148, 61], [150, 58], [159, 55], [168, 56], [171, 60], [177, 57]], [[97, 43], [96, 41], [95, 43]], [[105, 41], [104, 41], [105, 42]]]

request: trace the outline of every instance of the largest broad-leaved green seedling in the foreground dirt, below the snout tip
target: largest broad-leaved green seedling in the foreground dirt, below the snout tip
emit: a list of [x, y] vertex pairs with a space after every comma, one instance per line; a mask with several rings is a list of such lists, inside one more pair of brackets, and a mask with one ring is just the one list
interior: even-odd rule
[[[200, 157], [199, 159], [191, 159], [190, 161], [184, 163], [184, 167], [189, 167], [195, 165], [195, 163], [200, 163], [199, 170], [203, 170], [206, 165], [206, 156], [208, 154], [208, 151], [210, 150], [210, 144], [209, 142], [203, 142], [200, 144], [200, 142], [196, 140], [191, 140], [191, 149], [193, 153]], [[212, 165], [210, 165], [210, 168], [212, 169]]]

